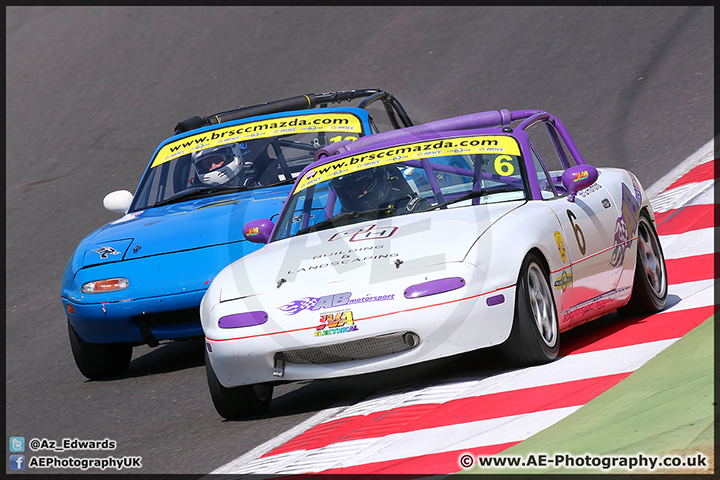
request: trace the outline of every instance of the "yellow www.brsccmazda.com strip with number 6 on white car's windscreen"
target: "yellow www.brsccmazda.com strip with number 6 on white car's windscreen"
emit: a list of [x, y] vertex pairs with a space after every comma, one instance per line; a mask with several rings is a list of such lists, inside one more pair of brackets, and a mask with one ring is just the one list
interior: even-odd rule
[[[416, 142], [381, 150], [372, 150], [313, 168], [298, 181], [293, 193], [298, 193], [312, 185], [334, 177], [372, 167], [407, 160], [477, 153], [499, 154], [499, 157], [495, 159], [496, 169], [500, 168], [502, 175], [510, 175], [516, 171], [513, 162], [517, 162], [516, 157], [520, 155], [520, 148], [512, 137], [478, 135]], [[498, 165], [501, 165], [501, 167], [498, 167]]]

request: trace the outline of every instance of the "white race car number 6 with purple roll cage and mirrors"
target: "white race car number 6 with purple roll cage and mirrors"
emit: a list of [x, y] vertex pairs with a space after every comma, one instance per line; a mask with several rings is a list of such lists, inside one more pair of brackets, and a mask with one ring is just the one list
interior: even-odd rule
[[202, 300], [208, 384], [225, 418], [263, 412], [278, 383], [494, 345], [515, 365], [548, 362], [563, 331], [665, 307], [638, 180], [585, 164], [547, 112], [465, 115], [315, 158], [276, 222], [245, 225], [265, 245]]

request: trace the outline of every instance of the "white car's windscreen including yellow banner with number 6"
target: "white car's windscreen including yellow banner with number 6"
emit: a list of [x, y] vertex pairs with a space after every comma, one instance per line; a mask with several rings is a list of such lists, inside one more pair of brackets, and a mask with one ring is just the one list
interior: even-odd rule
[[378, 218], [524, 200], [523, 165], [517, 141], [499, 135], [345, 155], [297, 181], [273, 240]]

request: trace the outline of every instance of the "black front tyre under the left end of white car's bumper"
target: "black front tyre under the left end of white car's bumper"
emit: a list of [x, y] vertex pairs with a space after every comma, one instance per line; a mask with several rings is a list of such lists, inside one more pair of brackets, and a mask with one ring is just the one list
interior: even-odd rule
[[215, 410], [228, 420], [249, 417], [267, 411], [272, 400], [273, 386], [268, 384], [224, 387], [215, 375], [205, 350], [205, 372]]

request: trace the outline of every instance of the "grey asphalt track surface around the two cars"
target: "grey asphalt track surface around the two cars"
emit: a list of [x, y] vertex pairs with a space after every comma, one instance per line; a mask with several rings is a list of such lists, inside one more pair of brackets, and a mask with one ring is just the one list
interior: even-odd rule
[[713, 31], [711, 7], [8, 7], [6, 438], [111, 438], [142, 473], [202, 474], [330, 406], [503, 368], [485, 352], [283, 386], [243, 422], [212, 407], [198, 343], [137, 348], [126, 375], [85, 381], [65, 263], [177, 121], [350, 88], [393, 93], [418, 123], [546, 109], [588, 163], [649, 186], [713, 138]]

